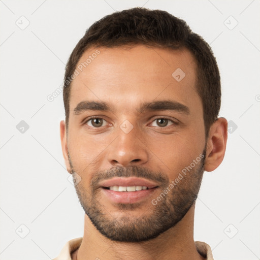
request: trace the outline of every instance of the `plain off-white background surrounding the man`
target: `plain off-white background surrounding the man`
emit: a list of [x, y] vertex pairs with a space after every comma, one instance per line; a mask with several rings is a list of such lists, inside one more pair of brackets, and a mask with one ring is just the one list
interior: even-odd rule
[[260, 258], [259, 0], [3, 0], [1, 260], [54, 258], [68, 240], [83, 236], [84, 211], [61, 152], [62, 94], [52, 102], [47, 96], [62, 84], [64, 65], [85, 30], [136, 6], [184, 19], [210, 43], [221, 72], [228, 146], [223, 163], [205, 172], [194, 239], [208, 243], [215, 260]]

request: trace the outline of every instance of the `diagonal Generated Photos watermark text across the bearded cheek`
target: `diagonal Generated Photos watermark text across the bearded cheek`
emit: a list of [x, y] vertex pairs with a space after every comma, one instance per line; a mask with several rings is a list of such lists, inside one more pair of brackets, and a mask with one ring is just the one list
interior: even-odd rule
[[182, 180], [187, 175], [187, 171], [190, 172], [196, 165], [198, 165], [198, 163], [200, 163], [203, 158], [204, 154], [201, 153], [196, 159], [193, 159], [192, 163], [189, 166], [183, 168], [178, 177], [174, 181], [171, 181], [170, 185], [166, 189], [164, 189], [164, 191], [161, 192], [156, 199], [153, 199], [151, 201], [152, 205], [157, 205], [158, 202], [161, 201], [161, 199], [165, 198], [166, 194], [168, 194], [180, 182], [180, 180]]

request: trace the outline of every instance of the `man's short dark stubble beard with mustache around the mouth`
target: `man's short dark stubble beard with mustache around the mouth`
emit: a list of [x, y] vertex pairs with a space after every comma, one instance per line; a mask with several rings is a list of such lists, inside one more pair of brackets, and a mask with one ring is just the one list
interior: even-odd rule
[[[196, 203], [204, 172], [206, 148], [203, 155], [200, 163], [183, 176], [178, 184], [170, 189], [169, 193], [161, 198], [156, 205], [153, 205], [151, 200], [164, 193], [171, 182], [165, 174], [152, 172], [139, 166], [116, 167], [106, 172], [97, 172], [93, 174], [89, 190], [86, 190], [82, 186], [82, 182], [79, 182], [75, 186], [79, 202], [95, 228], [108, 239], [120, 242], [141, 242], [156, 238], [161, 233], [173, 228]], [[69, 160], [71, 169], [73, 169], [70, 156]], [[155, 191], [154, 196], [147, 200], [149, 205], [146, 211], [141, 210], [141, 207], [144, 208], [143, 203], [135, 203], [117, 204], [113, 212], [109, 212], [106, 205], [100, 202], [102, 190], [97, 188], [97, 184], [102, 178], [108, 179], [116, 176], [135, 176], [159, 181], [161, 186], [157, 189], [160, 191]], [[131, 216], [131, 211], [139, 208], [140, 215], [138, 217]], [[120, 212], [119, 216], [115, 217], [115, 212]]]

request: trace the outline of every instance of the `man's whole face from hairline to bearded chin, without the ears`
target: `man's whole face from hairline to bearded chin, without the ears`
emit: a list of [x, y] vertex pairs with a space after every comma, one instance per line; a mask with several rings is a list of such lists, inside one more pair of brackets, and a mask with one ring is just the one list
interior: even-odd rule
[[101, 234], [149, 240], [185, 216], [201, 185], [196, 62], [187, 50], [143, 45], [99, 51], [83, 54], [78, 64], [94, 58], [71, 84], [67, 168], [81, 178], [80, 203]]

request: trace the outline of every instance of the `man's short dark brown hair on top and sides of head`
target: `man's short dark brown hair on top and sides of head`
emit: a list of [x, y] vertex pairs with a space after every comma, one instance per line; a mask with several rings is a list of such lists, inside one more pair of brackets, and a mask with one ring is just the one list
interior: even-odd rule
[[107, 15], [93, 23], [74, 48], [67, 62], [63, 101], [68, 129], [70, 85], [78, 61], [90, 47], [119, 47], [144, 44], [167, 49], [188, 49], [197, 61], [196, 89], [203, 104], [205, 133], [217, 119], [221, 103], [218, 66], [204, 39], [191, 31], [185, 21], [161, 10], [132, 8]]

